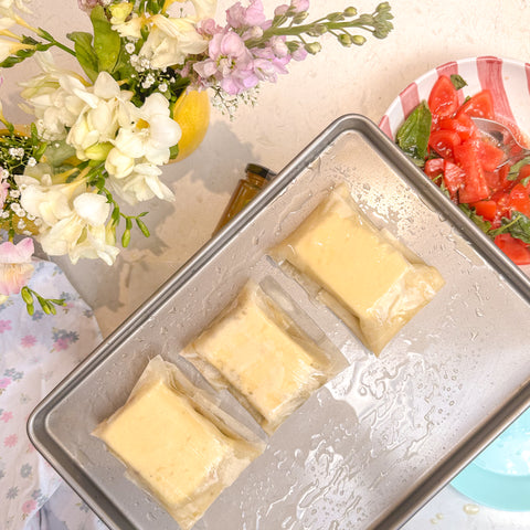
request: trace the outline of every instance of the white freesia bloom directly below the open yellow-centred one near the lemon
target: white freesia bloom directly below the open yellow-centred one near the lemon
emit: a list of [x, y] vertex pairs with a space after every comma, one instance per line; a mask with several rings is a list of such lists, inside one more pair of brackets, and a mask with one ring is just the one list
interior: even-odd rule
[[129, 204], [148, 201], [153, 197], [172, 201], [174, 199], [173, 192], [160, 181], [161, 173], [162, 171], [158, 166], [147, 162], [138, 163], [126, 179], [110, 177], [108, 184], [112, 191]]

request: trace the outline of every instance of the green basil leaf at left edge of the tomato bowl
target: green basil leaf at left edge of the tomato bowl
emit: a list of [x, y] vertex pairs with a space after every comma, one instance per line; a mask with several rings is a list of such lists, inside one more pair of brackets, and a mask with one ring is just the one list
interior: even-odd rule
[[425, 157], [427, 156], [432, 121], [433, 116], [427, 103], [422, 102], [406, 118], [396, 135], [396, 141], [401, 150], [421, 167], [425, 163]]

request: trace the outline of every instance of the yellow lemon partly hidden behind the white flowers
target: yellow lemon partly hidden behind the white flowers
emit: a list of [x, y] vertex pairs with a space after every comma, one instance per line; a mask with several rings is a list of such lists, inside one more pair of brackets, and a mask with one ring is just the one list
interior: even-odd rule
[[176, 102], [173, 119], [180, 125], [182, 137], [179, 141], [177, 162], [190, 156], [201, 144], [210, 125], [210, 98], [205, 91], [184, 92]]

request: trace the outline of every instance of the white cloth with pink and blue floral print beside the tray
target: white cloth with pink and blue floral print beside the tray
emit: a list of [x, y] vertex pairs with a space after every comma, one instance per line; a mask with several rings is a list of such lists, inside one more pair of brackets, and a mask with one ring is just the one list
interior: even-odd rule
[[102, 340], [92, 309], [62, 271], [35, 263], [30, 287], [64, 298], [55, 317], [30, 317], [21, 297], [0, 305], [0, 529], [106, 528], [30, 443], [35, 405]]

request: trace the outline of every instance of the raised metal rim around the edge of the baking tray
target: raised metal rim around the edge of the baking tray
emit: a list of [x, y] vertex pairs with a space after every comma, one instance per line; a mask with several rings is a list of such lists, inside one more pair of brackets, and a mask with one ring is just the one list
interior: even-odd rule
[[[519, 296], [530, 304], [530, 278], [452, 203], [436, 184], [426, 179], [424, 173], [406, 158], [399, 147], [372, 120], [359, 114], [347, 114], [337, 118], [285, 166], [276, 179], [257, 195], [250, 208], [245, 208], [231, 223], [191, 256], [131, 316], [70, 372], [30, 414], [26, 431], [31, 443], [91, 509], [113, 530], [130, 528], [130, 521], [105, 496], [88, 492], [88, 488], [80, 484], [78, 478], [75, 476], [77, 474], [71, 473], [60, 462], [57, 458], [59, 453], [61, 453], [63, 459], [67, 455], [64, 454], [47, 432], [49, 415], [59, 401], [75, 389], [85, 374], [93, 371], [112, 354], [113, 349], [127, 338], [129, 329], [146, 322], [170, 296], [178, 293], [193, 275], [203, 268], [218, 251], [236, 237], [268, 203], [274, 201], [300, 170], [309, 166], [330, 144], [348, 131], [357, 131], [368, 139], [371, 142], [371, 147], [381, 158], [402, 173], [407, 183], [418, 192], [423, 200], [426, 200], [433, 209], [441, 211], [452, 225], [474, 244], [474, 248], [483, 258], [504, 276]], [[381, 145], [383, 148], [380, 147]], [[368, 528], [385, 530], [388, 528], [399, 528], [405, 523], [529, 406], [530, 380], [513, 392], [492, 415], [478, 425], [467, 438], [448, 453], [423, 479], [416, 483], [396, 505], [389, 507]], [[91, 483], [97, 490], [97, 486], [94, 485], [91, 477], [85, 475], [83, 480]], [[112, 509], [105, 509], [105, 505], [112, 507]], [[109, 515], [109, 511], [113, 515]]]

